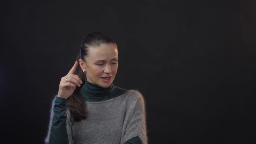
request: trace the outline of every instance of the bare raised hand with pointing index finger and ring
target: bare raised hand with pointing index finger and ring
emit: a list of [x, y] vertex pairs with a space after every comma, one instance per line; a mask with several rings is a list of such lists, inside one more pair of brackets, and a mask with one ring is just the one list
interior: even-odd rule
[[69, 73], [61, 78], [59, 82], [58, 97], [67, 99], [75, 91], [76, 86], [78, 87], [81, 86], [82, 80], [79, 78], [78, 75], [74, 75], [77, 65], [78, 65], [78, 62], [75, 61], [75, 64], [69, 70]]

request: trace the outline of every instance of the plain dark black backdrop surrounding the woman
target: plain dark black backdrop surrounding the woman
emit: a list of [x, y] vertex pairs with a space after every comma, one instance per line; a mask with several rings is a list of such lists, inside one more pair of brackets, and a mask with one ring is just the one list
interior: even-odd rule
[[92, 31], [118, 43], [114, 84], [144, 95], [149, 144], [255, 142], [255, 1], [2, 4], [1, 143], [43, 144], [60, 78]]

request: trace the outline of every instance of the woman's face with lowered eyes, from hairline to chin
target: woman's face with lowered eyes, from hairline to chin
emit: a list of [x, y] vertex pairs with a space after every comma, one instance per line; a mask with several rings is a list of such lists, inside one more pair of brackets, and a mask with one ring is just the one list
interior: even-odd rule
[[118, 50], [115, 44], [101, 44], [89, 47], [89, 55], [84, 63], [88, 82], [100, 87], [109, 87], [118, 69]]

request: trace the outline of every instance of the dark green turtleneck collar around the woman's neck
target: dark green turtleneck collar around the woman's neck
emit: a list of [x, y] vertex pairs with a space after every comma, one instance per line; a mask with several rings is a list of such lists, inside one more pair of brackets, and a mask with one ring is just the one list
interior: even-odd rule
[[111, 98], [118, 97], [124, 94], [127, 90], [119, 88], [113, 83], [108, 88], [102, 88], [98, 85], [88, 82], [85, 78], [85, 83], [82, 85], [80, 93], [85, 98], [85, 101], [98, 102], [106, 101]]

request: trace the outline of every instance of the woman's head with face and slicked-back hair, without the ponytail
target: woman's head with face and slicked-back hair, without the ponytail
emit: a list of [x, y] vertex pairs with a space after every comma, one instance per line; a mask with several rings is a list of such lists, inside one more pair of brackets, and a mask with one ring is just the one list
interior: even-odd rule
[[118, 70], [117, 44], [104, 33], [89, 33], [82, 41], [78, 61], [88, 82], [107, 88]]

